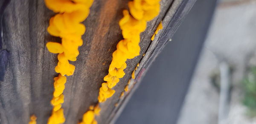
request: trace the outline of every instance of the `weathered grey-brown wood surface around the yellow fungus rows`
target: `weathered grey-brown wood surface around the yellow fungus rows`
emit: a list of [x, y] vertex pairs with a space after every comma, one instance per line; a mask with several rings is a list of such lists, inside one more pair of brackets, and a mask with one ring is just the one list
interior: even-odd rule
[[[65, 84], [62, 105], [65, 124], [77, 124], [89, 106], [97, 102], [112, 53], [122, 39], [118, 22], [123, 17], [122, 10], [128, 8], [128, 1], [94, 0], [90, 14], [83, 22], [86, 26], [82, 36], [84, 44], [79, 47], [77, 61], [71, 62], [76, 70], [67, 77]], [[127, 61], [126, 75], [114, 87], [116, 93], [100, 104], [102, 110], [96, 117], [98, 124], [114, 123], [148, 66], [175, 33], [195, 0], [162, 0], [160, 3], [160, 14], [148, 22], [147, 29], [141, 34], [140, 56]], [[57, 76], [54, 70], [57, 54], [49, 53], [45, 45], [49, 41], [60, 42], [60, 38], [47, 33], [53, 15], [44, 5], [44, 0], [11, 0], [3, 13], [0, 51], [8, 51], [9, 56], [6, 68], [0, 66], [0, 70], [6, 70], [4, 80], [0, 81], [0, 124], [27, 124], [32, 114], [37, 116], [38, 124], [47, 124], [52, 111], [50, 100], [54, 90], [53, 78]], [[163, 30], [151, 41], [161, 20]], [[124, 99], [119, 99], [138, 62], [140, 67], [131, 83], [134, 88], [125, 94]], [[115, 106], [116, 103], [119, 105]]]

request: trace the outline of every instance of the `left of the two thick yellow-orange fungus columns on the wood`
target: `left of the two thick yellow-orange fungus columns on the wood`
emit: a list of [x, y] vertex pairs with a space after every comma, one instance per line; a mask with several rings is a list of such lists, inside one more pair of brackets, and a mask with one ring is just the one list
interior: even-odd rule
[[[63, 90], [67, 78], [65, 75], [73, 75], [75, 66], [69, 61], [76, 61], [79, 55], [78, 47], [83, 44], [81, 36], [85, 32], [85, 26], [81, 24], [89, 12], [93, 0], [44, 0], [46, 6], [54, 11], [55, 16], [49, 20], [47, 31], [55, 37], [61, 37], [61, 43], [47, 42], [49, 52], [58, 54], [58, 65], [55, 71], [59, 73], [54, 78], [54, 93], [51, 100], [53, 105], [52, 115], [48, 124], [61, 124], [65, 117], [61, 104], [64, 102]], [[87, 123], [86, 123], [87, 124]]]

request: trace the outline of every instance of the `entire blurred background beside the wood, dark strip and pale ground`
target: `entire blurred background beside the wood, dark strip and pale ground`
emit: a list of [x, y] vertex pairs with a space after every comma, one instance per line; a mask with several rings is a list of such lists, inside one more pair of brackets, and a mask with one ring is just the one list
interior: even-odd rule
[[197, 0], [116, 124], [256, 124], [256, 0]]

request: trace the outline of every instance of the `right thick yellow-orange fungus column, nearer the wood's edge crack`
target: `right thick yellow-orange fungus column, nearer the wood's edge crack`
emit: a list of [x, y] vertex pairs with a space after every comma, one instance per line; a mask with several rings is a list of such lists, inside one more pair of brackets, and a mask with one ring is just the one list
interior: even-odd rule
[[[115, 90], [112, 88], [125, 75], [126, 60], [140, 55], [140, 33], [145, 30], [147, 21], [152, 20], [158, 15], [160, 11], [159, 2], [160, 0], [133, 0], [128, 3], [130, 13], [128, 10], [123, 11], [124, 17], [119, 21], [119, 26], [124, 39], [118, 42], [116, 51], [112, 54], [108, 75], [104, 77], [105, 82], [102, 83], [99, 89], [99, 102], [106, 101], [115, 93]], [[135, 71], [132, 73], [132, 78], [135, 79]], [[128, 90], [128, 87], [125, 89]], [[84, 113], [84, 115], [87, 115], [89, 112], [90, 110]], [[92, 117], [91, 120], [94, 120], [94, 116], [90, 117]]]

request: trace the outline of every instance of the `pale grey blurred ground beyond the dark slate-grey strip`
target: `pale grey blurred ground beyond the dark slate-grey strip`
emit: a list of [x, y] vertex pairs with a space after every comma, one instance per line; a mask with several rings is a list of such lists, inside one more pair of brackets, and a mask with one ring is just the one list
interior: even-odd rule
[[256, 0], [220, 1], [178, 124], [218, 124], [219, 93], [210, 76], [222, 61], [234, 68], [227, 124], [256, 124], [241, 104], [241, 80], [255, 50]]

